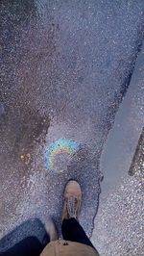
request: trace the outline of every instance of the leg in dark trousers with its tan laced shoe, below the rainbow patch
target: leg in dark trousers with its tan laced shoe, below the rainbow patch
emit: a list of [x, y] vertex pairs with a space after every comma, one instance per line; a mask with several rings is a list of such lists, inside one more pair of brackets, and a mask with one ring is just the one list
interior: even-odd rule
[[84, 243], [94, 248], [78, 221], [81, 209], [81, 200], [82, 191], [79, 183], [74, 180], [69, 181], [64, 191], [64, 203], [61, 215], [62, 236], [64, 240]]

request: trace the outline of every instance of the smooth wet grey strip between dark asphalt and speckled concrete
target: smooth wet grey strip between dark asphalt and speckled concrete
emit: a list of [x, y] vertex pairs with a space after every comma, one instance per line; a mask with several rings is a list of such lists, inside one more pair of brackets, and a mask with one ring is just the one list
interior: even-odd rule
[[119, 107], [115, 122], [108, 135], [108, 141], [101, 157], [104, 180], [101, 184], [101, 201], [108, 196], [112, 187], [127, 176], [132, 158], [144, 126], [144, 44], [138, 55], [132, 74], [132, 81]]

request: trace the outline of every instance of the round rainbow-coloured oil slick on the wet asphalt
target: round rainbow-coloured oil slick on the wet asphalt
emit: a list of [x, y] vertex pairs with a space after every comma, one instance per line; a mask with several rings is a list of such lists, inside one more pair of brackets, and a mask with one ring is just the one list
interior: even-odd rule
[[67, 139], [59, 139], [46, 147], [46, 168], [54, 172], [63, 172], [67, 169], [74, 154], [79, 149], [79, 143]]

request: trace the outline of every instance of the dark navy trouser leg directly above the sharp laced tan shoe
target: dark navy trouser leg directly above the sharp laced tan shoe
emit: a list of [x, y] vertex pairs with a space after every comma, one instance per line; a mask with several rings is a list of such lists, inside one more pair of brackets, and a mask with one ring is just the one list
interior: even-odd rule
[[64, 240], [84, 243], [94, 248], [93, 244], [86, 236], [83, 227], [76, 218], [64, 219], [61, 226], [61, 232]]

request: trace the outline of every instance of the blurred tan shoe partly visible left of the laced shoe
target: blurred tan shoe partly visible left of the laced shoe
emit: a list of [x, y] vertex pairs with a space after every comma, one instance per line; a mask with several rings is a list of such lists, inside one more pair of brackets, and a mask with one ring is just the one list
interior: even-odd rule
[[48, 236], [50, 237], [50, 242], [58, 240], [59, 236], [58, 236], [57, 228], [52, 219], [50, 219], [45, 224], [45, 230], [46, 230]]

